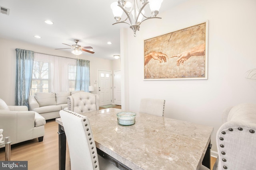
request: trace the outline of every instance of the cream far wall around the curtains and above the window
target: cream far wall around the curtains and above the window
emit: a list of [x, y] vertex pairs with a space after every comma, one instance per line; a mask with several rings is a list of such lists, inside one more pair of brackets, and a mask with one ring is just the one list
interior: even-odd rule
[[[0, 98], [8, 105], [15, 104], [16, 48], [31, 50], [37, 53], [76, 58], [75, 55], [68, 51], [55, 50], [54, 48], [42, 47], [22, 41], [0, 39]], [[112, 60], [96, 58], [90, 54], [87, 56], [84, 53], [80, 55], [79, 58], [90, 61], [91, 84], [94, 84], [94, 80], [98, 80], [98, 69], [112, 70]], [[98, 84], [96, 84], [96, 86], [98, 86]], [[94, 91], [96, 94], [97, 92], [97, 90]]]

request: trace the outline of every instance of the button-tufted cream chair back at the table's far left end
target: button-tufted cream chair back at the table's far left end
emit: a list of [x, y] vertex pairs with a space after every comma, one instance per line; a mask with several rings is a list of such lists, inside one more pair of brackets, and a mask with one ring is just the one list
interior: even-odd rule
[[99, 109], [99, 96], [88, 92], [80, 92], [68, 96], [68, 110], [82, 114]]

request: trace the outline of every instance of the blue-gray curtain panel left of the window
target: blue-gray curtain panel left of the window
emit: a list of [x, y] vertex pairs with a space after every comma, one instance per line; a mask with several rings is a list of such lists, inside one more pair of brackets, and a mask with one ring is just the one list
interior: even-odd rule
[[28, 106], [28, 96], [32, 82], [34, 51], [16, 50], [16, 106]]

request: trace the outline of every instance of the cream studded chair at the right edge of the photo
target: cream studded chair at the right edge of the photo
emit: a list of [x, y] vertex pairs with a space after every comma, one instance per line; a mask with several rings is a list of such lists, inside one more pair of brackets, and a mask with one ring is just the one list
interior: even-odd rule
[[256, 104], [226, 109], [216, 134], [218, 158], [214, 170], [251, 170], [256, 167]]

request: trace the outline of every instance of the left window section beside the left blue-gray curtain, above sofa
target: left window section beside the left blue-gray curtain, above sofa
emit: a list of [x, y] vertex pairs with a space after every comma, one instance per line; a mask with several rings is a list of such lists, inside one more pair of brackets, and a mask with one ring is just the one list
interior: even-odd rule
[[49, 92], [49, 64], [47, 62], [34, 61], [30, 95], [34, 95], [36, 92]]

